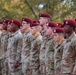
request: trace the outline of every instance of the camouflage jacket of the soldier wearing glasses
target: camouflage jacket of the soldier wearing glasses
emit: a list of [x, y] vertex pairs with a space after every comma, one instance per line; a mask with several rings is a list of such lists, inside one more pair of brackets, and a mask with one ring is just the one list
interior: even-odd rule
[[31, 39], [32, 34], [30, 31], [24, 33], [23, 36], [23, 44], [22, 44], [22, 54], [21, 54], [21, 62], [28, 62], [30, 58], [30, 50], [31, 50]]

